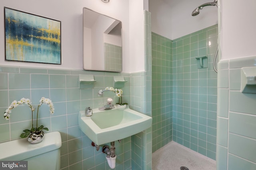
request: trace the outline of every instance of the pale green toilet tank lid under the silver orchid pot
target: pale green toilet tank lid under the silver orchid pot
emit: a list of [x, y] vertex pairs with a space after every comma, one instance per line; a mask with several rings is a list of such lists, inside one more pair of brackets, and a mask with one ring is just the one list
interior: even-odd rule
[[59, 132], [45, 133], [44, 140], [36, 144], [29, 143], [27, 138], [17, 139], [0, 143], [0, 160], [24, 160], [60, 147], [61, 136]]

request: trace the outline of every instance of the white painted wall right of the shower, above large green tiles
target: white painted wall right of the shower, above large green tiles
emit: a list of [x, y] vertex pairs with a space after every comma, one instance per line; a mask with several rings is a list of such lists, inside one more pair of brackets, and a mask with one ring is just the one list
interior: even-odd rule
[[220, 0], [222, 60], [256, 55], [256, 1]]

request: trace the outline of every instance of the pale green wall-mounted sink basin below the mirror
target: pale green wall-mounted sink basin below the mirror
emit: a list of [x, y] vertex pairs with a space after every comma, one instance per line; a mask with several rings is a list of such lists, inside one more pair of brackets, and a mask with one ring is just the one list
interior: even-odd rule
[[125, 109], [92, 109], [92, 116], [86, 117], [85, 111], [78, 115], [78, 125], [96, 145], [106, 144], [132, 136], [151, 127], [152, 117]]

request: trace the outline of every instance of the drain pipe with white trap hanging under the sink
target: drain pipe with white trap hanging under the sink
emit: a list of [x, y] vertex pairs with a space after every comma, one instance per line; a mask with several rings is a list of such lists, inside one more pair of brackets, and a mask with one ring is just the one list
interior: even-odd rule
[[111, 169], [114, 169], [116, 167], [116, 154], [115, 154], [115, 142], [111, 142], [111, 147], [109, 149], [108, 145], [105, 145], [102, 148], [102, 152], [106, 153], [106, 159], [108, 161], [108, 165]]

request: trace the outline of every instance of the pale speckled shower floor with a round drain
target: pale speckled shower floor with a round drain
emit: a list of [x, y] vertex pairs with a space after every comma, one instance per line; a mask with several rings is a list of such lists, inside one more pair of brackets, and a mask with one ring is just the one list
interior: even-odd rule
[[216, 170], [216, 161], [190, 150], [176, 142], [170, 142], [152, 154], [152, 170]]

